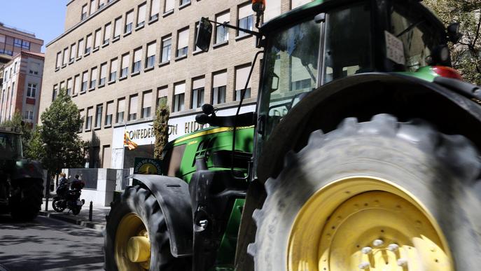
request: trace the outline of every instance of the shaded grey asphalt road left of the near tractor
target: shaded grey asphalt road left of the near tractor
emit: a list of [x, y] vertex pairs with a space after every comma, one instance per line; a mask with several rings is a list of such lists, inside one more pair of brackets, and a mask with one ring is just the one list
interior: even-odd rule
[[104, 270], [102, 232], [39, 216], [0, 215], [0, 270]]

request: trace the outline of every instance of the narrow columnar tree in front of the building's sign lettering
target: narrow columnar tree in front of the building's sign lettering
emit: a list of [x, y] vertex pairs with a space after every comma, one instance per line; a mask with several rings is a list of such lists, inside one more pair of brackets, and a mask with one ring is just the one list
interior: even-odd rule
[[153, 130], [155, 132], [153, 158], [162, 159], [162, 152], [169, 141], [169, 106], [167, 106], [166, 98], [160, 99], [159, 106], [155, 112]]

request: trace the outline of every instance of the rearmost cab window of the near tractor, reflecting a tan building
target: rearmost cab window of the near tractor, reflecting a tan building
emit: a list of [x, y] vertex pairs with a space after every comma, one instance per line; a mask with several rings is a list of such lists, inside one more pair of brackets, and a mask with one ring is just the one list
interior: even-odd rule
[[[416, 71], [428, 66], [431, 60], [431, 50], [441, 43], [437, 27], [431, 25], [412, 5], [403, 5], [393, 1], [389, 16], [391, 25], [389, 33], [403, 43], [403, 57], [396, 64], [398, 70]], [[442, 29], [444, 30], [444, 29]], [[386, 38], [387, 39], [387, 38]], [[387, 41], [386, 41], [387, 42]], [[388, 46], [386, 44], [386, 46]], [[395, 60], [391, 60], [396, 62]]]

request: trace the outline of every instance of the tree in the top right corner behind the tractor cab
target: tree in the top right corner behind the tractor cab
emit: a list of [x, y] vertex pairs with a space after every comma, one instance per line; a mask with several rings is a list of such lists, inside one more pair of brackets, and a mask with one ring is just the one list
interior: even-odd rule
[[451, 59], [463, 79], [481, 85], [481, 2], [480, 0], [426, 0], [426, 6], [449, 25], [459, 22], [463, 38], [450, 45]]

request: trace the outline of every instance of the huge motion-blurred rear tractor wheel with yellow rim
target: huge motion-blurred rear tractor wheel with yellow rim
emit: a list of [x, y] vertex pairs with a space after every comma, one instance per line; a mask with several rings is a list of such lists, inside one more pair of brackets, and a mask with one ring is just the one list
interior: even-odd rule
[[313, 132], [254, 211], [256, 270], [479, 270], [480, 156], [421, 120]]

